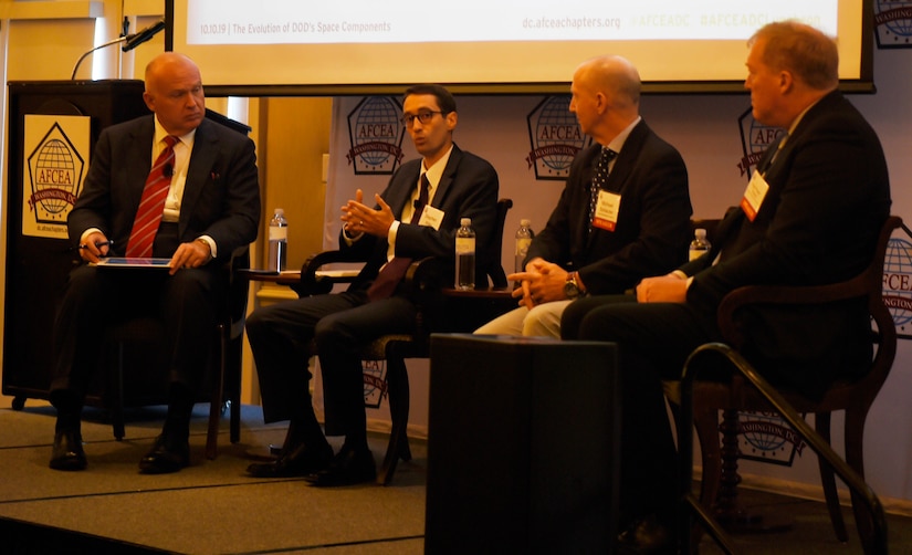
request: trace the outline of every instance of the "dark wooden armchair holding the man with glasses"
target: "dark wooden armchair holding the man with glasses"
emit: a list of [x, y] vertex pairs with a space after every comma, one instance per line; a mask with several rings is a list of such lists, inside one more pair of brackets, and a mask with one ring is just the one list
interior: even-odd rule
[[[491, 245], [490, 260], [501, 261], [503, 250], [503, 229], [506, 213], [513, 207], [513, 200], [497, 201], [497, 219], [494, 228], [496, 238]], [[301, 296], [328, 293], [337, 283], [350, 281], [347, 276], [323, 274], [325, 264], [338, 262], [363, 262], [346, 260], [340, 251], [324, 251], [311, 256], [301, 269], [301, 282], [292, 289]], [[395, 334], [378, 337], [361, 348], [363, 360], [385, 360], [387, 365], [386, 386], [391, 429], [384, 462], [377, 471], [377, 483], [387, 485], [392, 479], [399, 459], [411, 460], [408, 443], [409, 419], [409, 381], [406, 370], [407, 358], [428, 358], [430, 356], [430, 334], [432, 332], [473, 332], [494, 316], [512, 308], [515, 302], [504, 293], [507, 287], [503, 268], [495, 263], [489, 270], [493, 290], [481, 287], [474, 292], [452, 290], [451, 269], [436, 259], [412, 262], [405, 282], [411, 289], [418, 306], [417, 331], [415, 334]], [[317, 355], [316, 347], [312, 355]]]

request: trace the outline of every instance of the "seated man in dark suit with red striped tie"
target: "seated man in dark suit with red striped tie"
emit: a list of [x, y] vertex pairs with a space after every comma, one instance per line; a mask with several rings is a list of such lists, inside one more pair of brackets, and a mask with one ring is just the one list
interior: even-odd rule
[[[155, 114], [102, 132], [67, 220], [70, 238], [90, 264], [71, 272], [55, 321], [51, 468], [57, 470], [86, 465], [80, 413], [104, 327], [140, 314], [165, 323], [171, 386], [163, 432], [139, 467], [161, 473], [188, 464], [190, 413], [211, 352], [216, 303], [227, 285], [223, 266], [237, 248], [256, 238], [253, 142], [205, 118], [202, 81], [190, 59], [172, 52], [156, 56], [145, 83], [143, 97]], [[144, 213], [140, 199], [154, 202], [147, 182], [161, 187], [159, 203], [145, 212], [151, 220], [143, 247], [141, 226], [134, 222]], [[108, 255], [166, 258], [170, 268], [94, 265]]]

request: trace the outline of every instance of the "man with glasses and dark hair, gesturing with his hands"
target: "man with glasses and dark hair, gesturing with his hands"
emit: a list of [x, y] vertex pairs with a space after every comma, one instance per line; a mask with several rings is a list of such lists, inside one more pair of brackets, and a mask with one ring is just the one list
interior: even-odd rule
[[[480, 255], [491, 250], [491, 241], [500, 240], [494, 237], [497, 174], [488, 161], [453, 144], [458, 117], [452, 95], [439, 85], [413, 86], [406, 91], [402, 112], [421, 158], [396, 171], [386, 190], [375, 196], [375, 208], [363, 202], [358, 190], [342, 209], [339, 248], [367, 260], [356, 281], [342, 293], [260, 308], [247, 321], [263, 417], [266, 422], [290, 421], [282, 455], [251, 464], [252, 475], [306, 475], [315, 485], [331, 486], [374, 480], [358, 346], [384, 334], [410, 334], [416, 325], [416, 306], [405, 292], [378, 292], [377, 285], [386, 282], [381, 268], [388, 272], [400, 258], [452, 262], [463, 217], [472, 219]], [[426, 181], [429, 190], [422, 195]], [[486, 281], [492, 263], [500, 261], [478, 260], [475, 283]], [[335, 458], [311, 405], [307, 358], [314, 339], [323, 371], [326, 433], [345, 436]]]

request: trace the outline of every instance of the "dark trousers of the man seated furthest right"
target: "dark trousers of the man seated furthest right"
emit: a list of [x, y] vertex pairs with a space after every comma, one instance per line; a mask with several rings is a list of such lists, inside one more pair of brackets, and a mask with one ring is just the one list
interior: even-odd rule
[[630, 295], [580, 299], [560, 327], [564, 338], [619, 347], [620, 526], [652, 512], [668, 516], [678, 499], [678, 462], [661, 380], [680, 379], [691, 352], [717, 333], [685, 304], [639, 304]]

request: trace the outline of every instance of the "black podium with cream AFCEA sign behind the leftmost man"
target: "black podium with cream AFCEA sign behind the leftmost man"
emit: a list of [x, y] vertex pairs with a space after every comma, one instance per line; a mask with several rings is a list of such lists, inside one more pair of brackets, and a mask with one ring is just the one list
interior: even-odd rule
[[[13, 408], [48, 398], [56, 301], [78, 262], [66, 214], [102, 129], [149, 113], [143, 90], [134, 80], [9, 83], [3, 395], [14, 396]], [[32, 115], [54, 117], [35, 123]], [[78, 125], [70, 127], [72, 116]], [[86, 402], [101, 405], [96, 394]]]

